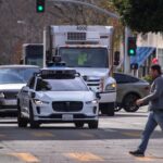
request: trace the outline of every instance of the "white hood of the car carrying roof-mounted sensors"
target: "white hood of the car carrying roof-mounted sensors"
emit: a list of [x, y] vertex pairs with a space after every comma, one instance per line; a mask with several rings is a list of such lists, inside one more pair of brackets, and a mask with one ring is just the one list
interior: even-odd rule
[[37, 93], [43, 101], [90, 101], [95, 99], [92, 91], [47, 91]]

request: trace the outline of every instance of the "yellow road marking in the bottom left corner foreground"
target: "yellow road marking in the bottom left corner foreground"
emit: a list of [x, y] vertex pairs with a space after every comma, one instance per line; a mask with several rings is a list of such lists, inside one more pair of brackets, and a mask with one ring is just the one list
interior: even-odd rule
[[37, 163], [40, 162], [36, 156], [30, 153], [11, 153], [10, 155], [16, 156], [17, 159], [25, 161], [26, 163]]

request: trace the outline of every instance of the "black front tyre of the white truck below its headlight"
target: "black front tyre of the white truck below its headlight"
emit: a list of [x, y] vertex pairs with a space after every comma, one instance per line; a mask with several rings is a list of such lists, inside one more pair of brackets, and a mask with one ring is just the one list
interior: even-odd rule
[[100, 103], [100, 111], [102, 114], [106, 114], [109, 116], [114, 116], [114, 103]]

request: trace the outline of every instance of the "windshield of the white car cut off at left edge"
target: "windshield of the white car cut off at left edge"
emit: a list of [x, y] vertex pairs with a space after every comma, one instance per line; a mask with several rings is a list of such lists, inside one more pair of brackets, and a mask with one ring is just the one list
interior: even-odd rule
[[0, 68], [0, 84], [26, 84], [38, 70], [37, 67]]

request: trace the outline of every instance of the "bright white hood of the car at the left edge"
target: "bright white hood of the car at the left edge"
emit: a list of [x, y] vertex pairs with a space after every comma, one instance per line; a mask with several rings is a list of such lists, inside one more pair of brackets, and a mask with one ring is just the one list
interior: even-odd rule
[[0, 90], [20, 90], [26, 84], [0, 84]]

